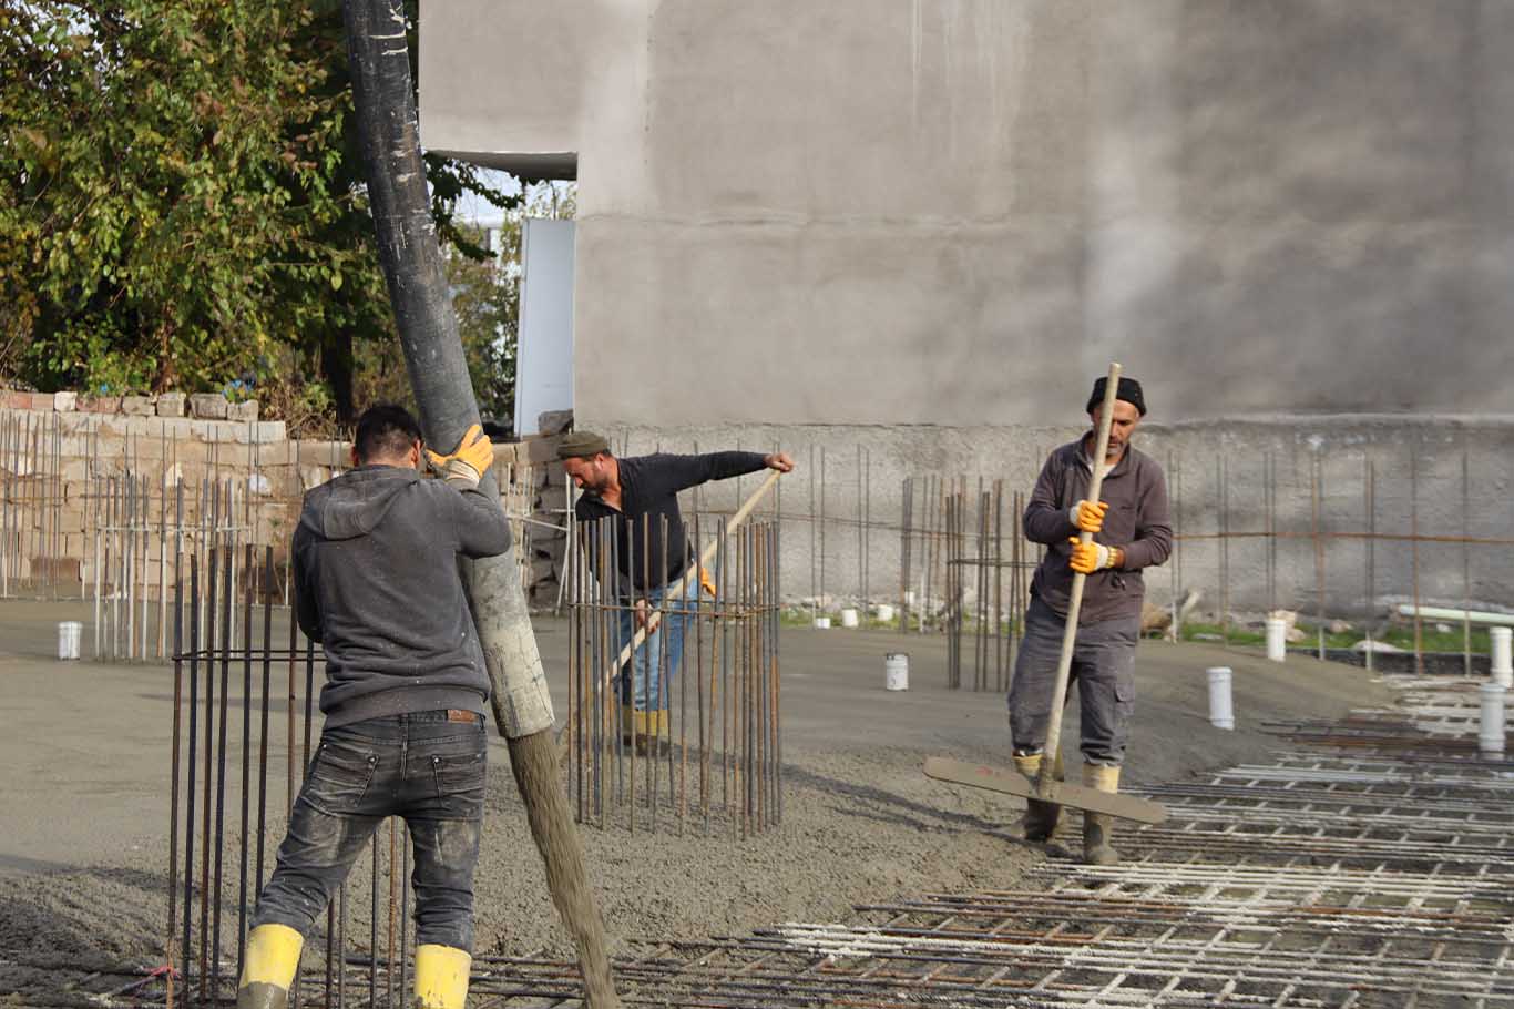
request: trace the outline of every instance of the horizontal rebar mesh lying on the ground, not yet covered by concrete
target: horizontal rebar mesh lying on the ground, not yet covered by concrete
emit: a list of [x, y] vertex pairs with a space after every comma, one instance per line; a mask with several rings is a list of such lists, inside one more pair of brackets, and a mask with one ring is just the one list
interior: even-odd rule
[[[1394, 686], [1463, 715], [1476, 700]], [[1417, 717], [1311, 723], [1320, 750], [1146, 789], [1172, 818], [1122, 830], [1120, 865], [1048, 862], [1020, 889], [861, 904], [851, 924], [636, 942], [616, 976], [630, 1004], [731, 1009], [1514, 1006], [1514, 765]], [[550, 959], [481, 957], [474, 991], [578, 1004], [574, 965]]]

